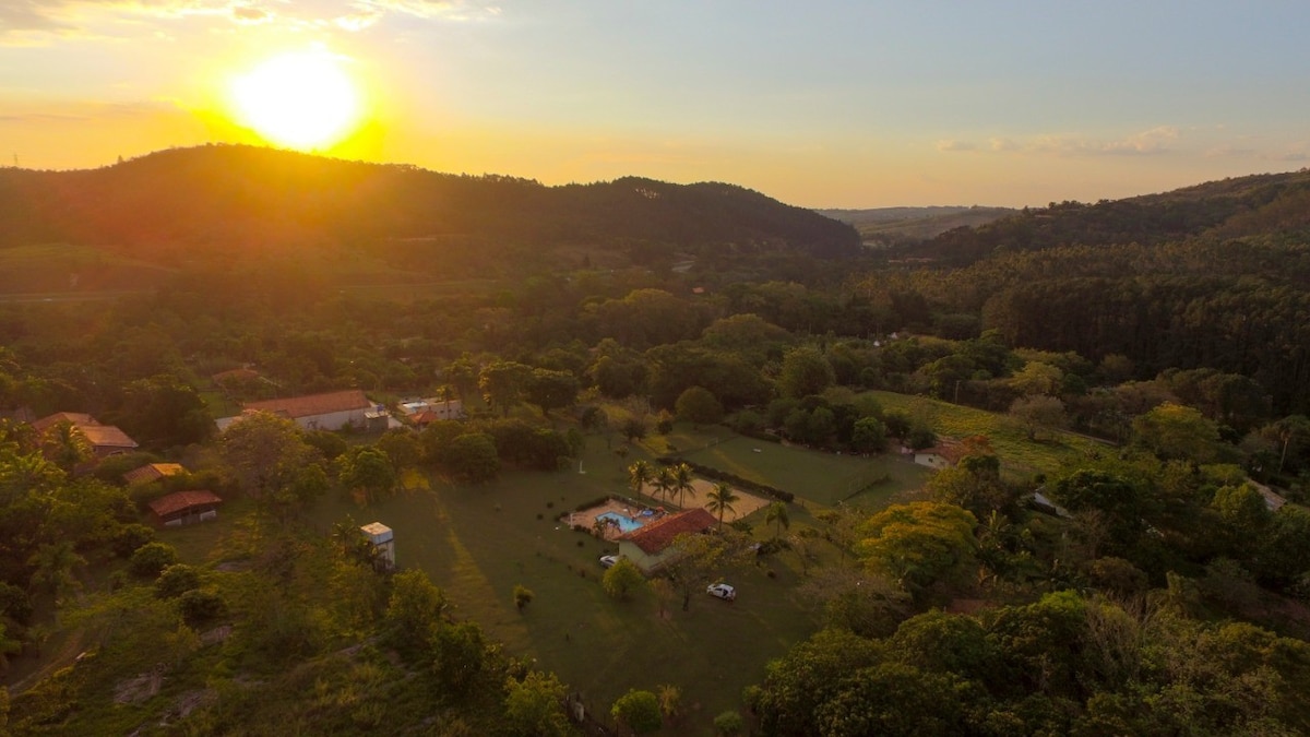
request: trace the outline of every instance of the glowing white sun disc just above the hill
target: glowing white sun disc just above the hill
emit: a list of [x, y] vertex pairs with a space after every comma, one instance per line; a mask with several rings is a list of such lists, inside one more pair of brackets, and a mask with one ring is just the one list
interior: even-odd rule
[[338, 58], [326, 51], [274, 56], [232, 80], [233, 114], [270, 143], [328, 148], [363, 118], [363, 101]]

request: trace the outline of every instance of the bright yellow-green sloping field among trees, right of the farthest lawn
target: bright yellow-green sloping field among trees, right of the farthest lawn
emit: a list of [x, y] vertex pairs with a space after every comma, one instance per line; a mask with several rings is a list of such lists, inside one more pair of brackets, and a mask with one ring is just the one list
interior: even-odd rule
[[967, 438], [986, 435], [992, 448], [1007, 473], [1031, 476], [1051, 473], [1069, 460], [1090, 454], [1103, 443], [1073, 433], [1043, 431], [1038, 441], [1030, 441], [1023, 426], [1005, 414], [975, 409], [935, 399], [869, 392], [886, 409], [901, 409], [910, 417], [922, 420], [939, 437]]

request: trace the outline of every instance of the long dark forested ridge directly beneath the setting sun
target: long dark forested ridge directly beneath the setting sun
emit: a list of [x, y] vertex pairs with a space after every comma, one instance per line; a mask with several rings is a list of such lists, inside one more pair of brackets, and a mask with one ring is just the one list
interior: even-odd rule
[[859, 248], [850, 226], [726, 184], [544, 186], [249, 146], [169, 149], [93, 170], [0, 169], [0, 245], [127, 245], [138, 254], [432, 236], [829, 257]]

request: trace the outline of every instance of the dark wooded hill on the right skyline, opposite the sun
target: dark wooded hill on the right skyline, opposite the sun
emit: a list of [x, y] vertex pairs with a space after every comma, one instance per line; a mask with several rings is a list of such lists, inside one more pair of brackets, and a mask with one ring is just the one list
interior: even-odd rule
[[1310, 226], [1310, 170], [1254, 174], [1129, 199], [1051, 203], [912, 249], [954, 265], [1005, 250], [1058, 245], [1154, 245], [1203, 235], [1241, 237]]

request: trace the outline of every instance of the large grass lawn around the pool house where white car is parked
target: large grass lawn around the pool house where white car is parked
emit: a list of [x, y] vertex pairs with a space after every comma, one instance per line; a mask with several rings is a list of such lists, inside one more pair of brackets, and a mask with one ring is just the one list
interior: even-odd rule
[[[328, 528], [350, 515], [390, 526], [398, 564], [424, 569], [456, 618], [478, 622], [508, 652], [537, 658], [592, 711], [608, 713], [629, 688], [671, 683], [683, 690], [688, 717], [665, 733], [711, 733], [714, 716], [741, 707], [741, 688], [762, 679], [764, 665], [816, 628], [795, 594], [799, 573], [787, 560], [794, 556], [769, 561], [774, 578], [764, 568], [726, 570], [740, 591], [736, 603], [700, 593], [689, 611], [679, 599], [660, 616], [648, 591], [609, 599], [597, 559], [613, 547], [555, 517], [607, 493], [627, 493], [625, 468], [639, 455], [618, 458], [600, 438], [588, 441], [586, 473], [507, 472], [485, 487], [411, 475], [406, 493], [367, 509], [325, 501], [316, 523]], [[516, 584], [536, 594], [523, 614], [512, 601]]]

